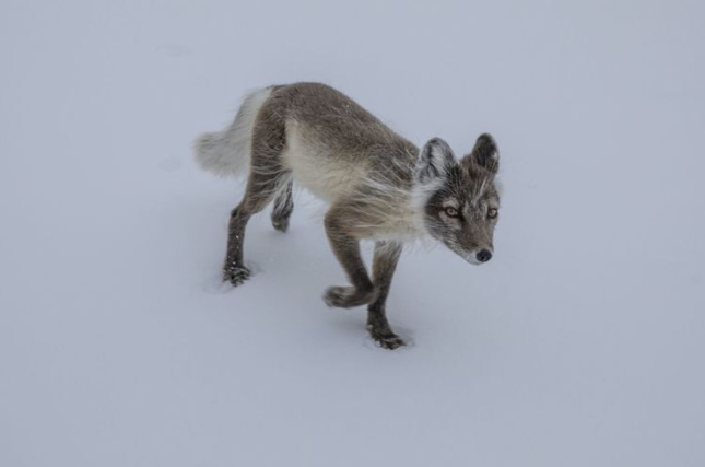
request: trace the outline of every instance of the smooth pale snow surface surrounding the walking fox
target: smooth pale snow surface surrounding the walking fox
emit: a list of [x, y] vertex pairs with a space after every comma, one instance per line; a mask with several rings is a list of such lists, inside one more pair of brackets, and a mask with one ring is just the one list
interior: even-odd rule
[[[0, 466], [705, 465], [697, 1], [0, 3]], [[321, 208], [199, 172], [316, 80], [415, 141], [491, 131], [495, 257], [406, 255], [375, 348]]]

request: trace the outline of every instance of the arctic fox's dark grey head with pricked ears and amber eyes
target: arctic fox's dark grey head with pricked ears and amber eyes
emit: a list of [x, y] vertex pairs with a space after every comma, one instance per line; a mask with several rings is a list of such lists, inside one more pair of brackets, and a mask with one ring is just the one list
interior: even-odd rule
[[500, 152], [487, 133], [460, 161], [444, 140], [434, 138], [416, 163], [414, 184], [426, 200], [422, 210], [428, 233], [473, 265], [489, 261], [494, 253], [498, 167]]

